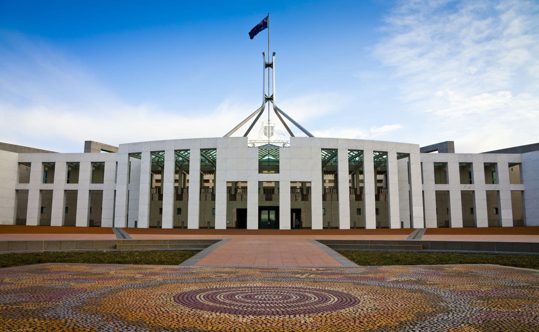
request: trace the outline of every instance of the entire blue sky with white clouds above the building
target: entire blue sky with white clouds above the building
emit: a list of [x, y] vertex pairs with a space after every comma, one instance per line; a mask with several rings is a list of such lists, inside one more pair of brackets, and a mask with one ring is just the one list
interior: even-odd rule
[[260, 104], [267, 12], [278, 104], [317, 137], [539, 141], [539, 4], [519, 0], [0, 2], [0, 141], [222, 136]]

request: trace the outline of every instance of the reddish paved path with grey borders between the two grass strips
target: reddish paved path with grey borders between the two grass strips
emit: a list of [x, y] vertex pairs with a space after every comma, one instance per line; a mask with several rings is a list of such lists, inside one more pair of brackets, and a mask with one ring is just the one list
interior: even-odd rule
[[234, 236], [198, 266], [342, 266], [305, 236]]

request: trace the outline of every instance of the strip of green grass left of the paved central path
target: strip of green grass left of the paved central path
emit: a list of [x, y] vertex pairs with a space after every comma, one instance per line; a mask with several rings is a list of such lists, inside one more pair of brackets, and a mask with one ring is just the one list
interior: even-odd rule
[[182, 250], [7, 253], [0, 254], [0, 267], [38, 263], [178, 265], [196, 253]]

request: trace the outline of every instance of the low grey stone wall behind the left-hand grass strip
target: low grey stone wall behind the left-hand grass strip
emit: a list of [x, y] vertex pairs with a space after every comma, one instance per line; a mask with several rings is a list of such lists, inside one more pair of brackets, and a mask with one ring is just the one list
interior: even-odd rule
[[[54, 250], [110, 250], [116, 245], [199, 245], [209, 247], [220, 240], [20, 240], [0, 241], [0, 253]], [[194, 247], [195, 248], [195, 247]]]

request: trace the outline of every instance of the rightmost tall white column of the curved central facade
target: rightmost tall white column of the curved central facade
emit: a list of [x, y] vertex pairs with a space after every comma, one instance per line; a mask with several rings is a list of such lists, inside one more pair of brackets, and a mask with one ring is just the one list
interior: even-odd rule
[[421, 155], [419, 146], [410, 151], [410, 197], [412, 202], [412, 228], [423, 228], [423, 185], [421, 185]]

